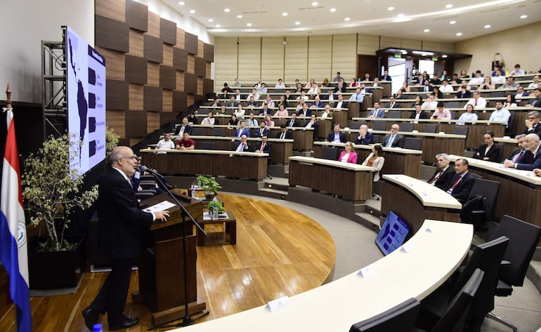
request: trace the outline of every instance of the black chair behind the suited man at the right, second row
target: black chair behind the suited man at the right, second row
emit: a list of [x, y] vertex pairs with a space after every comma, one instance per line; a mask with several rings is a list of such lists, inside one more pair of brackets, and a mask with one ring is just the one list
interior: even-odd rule
[[[476, 178], [468, 199], [462, 206], [460, 221], [474, 225], [476, 230], [486, 230], [488, 221], [493, 220], [499, 191], [500, 182]], [[483, 204], [478, 204], [480, 203], [478, 201], [482, 201]]]

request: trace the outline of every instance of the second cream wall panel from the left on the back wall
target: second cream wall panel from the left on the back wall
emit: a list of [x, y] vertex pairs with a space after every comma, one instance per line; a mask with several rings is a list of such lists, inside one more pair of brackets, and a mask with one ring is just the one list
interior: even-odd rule
[[[241, 82], [253, 84], [261, 77], [261, 38], [241, 37], [239, 43], [239, 79], [242, 77]], [[234, 77], [229, 78], [232, 79]]]

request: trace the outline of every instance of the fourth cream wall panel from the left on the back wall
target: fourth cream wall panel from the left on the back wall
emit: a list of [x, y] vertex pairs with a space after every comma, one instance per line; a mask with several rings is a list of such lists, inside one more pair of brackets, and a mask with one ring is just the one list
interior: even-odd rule
[[308, 80], [307, 53], [308, 37], [292, 36], [287, 38], [284, 72], [284, 81], [286, 83], [292, 83], [295, 79], [299, 79], [301, 82]]

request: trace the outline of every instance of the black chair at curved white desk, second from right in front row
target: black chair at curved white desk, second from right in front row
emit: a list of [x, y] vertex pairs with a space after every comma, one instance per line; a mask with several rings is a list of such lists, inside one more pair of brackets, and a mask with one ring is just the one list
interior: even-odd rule
[[449, 284], [443, 284], [434, 293], [422, 300], [422, 309], [419, 313], [420, 319], [428, 317], [429, 320], [433, 321], [434, 317], [443, 317], [445, 310], [448, 308], [448, 303], [467, 284], [475, 270], [480, 269], [485, 274], [467, 311], [464, 324], [464, 331], [478, 331], [485, 316], [494, 310], [497, 274], [508, 242], [507, 237], [498, 237], [492, 241], [474, 246], [474, 251], [471, 253], [468, 263], [463, 269], [459, 269], [457, 275], [450, 278]]

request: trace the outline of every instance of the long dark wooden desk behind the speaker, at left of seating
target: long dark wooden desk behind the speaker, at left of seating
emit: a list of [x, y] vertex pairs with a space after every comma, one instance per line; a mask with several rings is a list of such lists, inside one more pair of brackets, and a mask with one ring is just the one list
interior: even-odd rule
[[[263, 180], [268, 153], [142, 149], [143, 164], [164, 174], [209, 174]], [[156, 154], [155, 152], [167, 152]]]

